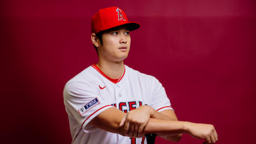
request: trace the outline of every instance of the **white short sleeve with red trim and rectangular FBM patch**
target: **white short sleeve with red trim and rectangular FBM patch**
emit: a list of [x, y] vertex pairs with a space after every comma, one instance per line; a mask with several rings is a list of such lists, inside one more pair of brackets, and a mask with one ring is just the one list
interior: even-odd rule
[[69, 82], [64, 91], [65, 109], [86, 133], [95, 131], [88, 123], [99, 113], [112, 107], [100, 97], [99, 89], [89, 82]]

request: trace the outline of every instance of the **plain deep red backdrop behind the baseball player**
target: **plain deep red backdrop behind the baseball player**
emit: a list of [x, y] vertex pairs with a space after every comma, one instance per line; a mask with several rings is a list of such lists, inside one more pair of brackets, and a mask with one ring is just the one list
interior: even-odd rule
[[2, 0], [1, 143], [71, 143], [63, 87], [97, 62], [90, 19], [108, 6], [142, 24], [125, 64], [159, 79], [181, 121], [212, 123], [218, 143], [253, 143], [254, 0]]

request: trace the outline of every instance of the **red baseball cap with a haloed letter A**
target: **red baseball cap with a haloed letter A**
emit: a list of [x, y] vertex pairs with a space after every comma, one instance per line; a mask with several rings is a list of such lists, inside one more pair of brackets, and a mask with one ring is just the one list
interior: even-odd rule
[[100, 9], [92, 16], [92, 33], [99, 33], [110, 28], [125, 25], [129, 31], [134, 31], [139, 28], [140, 24], [129, 22], [126, 14], [118, 7], [110, 7]]

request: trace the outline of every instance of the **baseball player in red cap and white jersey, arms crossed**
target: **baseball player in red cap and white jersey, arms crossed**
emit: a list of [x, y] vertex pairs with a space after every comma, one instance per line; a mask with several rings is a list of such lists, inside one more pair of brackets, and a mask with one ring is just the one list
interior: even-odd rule
[[64, 103], [72, 143], [146, 143], [146, 133], [178, 141], [182, 133], [218, 140], [212, 125], [178, 121], [164, 87], [124, 65], [139, 23], [122, 9], [100, 9], [92, 17], [92, 44], [99, 61], [65, 84]]

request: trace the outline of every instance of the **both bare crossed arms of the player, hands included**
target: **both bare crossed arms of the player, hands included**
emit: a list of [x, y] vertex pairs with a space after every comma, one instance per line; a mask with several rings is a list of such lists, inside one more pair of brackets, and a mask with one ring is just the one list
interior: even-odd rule
[[178, 141], [181, 133], [189, 133], [195, 138], [205, 139], [207, 143], [215, 143], [218, 140], [212, 125], [177, 121], [174, 111], [166, 110], [160, 113], [150, 106], [140, 106], [129, 113], [110, 108], [93, 118], [90, 124], [129, 137], [156, 133], [166, 140]]

